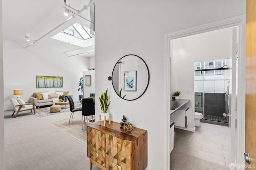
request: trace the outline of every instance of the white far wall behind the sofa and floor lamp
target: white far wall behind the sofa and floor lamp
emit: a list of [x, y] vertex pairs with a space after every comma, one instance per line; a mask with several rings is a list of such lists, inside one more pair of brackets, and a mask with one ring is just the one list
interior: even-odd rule
[[[4, 40], [4, 109], [11, 109], [14, 89], [23, 89], [21, 98], [29, 101], [33, 92], [69, 91], [78, 101], [78, 81], [89, 67], [88, 57], [67, 57], [64, 53]], [[62, 88], [36, 88], [36, 75], [63, 77]]]

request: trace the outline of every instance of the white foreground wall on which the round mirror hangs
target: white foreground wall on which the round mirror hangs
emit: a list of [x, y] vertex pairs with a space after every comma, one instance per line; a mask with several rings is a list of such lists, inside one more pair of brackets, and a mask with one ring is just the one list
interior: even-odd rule
[[[122, 115], [134, 127], [148, 130], [148, 170], [167, 169], [167, 121], [164, 90], [164, 34], [245, 14], [245, 0], [97, 0], [95, 8], [95, 95], [109, 89], [112, 120]], [[107, 32], [107, 34], [106, 34]], [[150, 82], [135, 101], [116, 95], [111, 81], [115, 63], [135, 54], [146, 62]], [[100, 113], [95, 101], [96, 121]]]

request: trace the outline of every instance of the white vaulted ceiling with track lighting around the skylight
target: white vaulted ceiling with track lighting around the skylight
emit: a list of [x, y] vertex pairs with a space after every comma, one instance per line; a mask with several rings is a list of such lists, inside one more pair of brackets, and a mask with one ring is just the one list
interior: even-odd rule
[[[66, 0], [66, 4], [81, 10], [89, 0]], [[64, 0], [3, 0], [3, 39], [22, 43], [27, 49], [40, 47], [69, 56], [93, 57], [92, 46], [82, 48], [51, 38], [75, 23], [90, 28], [90, 7], [80, 13], [83, 18], [76, 16], [66, 22], [72, 13], [64, 16], [63, 6]], [[32, 41], [27, 42], [25, 36], [32, 41], [37, 40], [36, 43], [30, 45]]]

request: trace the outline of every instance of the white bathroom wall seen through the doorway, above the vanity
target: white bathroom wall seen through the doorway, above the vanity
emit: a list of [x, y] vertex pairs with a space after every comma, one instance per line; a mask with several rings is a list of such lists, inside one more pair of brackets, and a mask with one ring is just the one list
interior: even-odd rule
[[[172, 44], [172, 91], [181, 91], [180, 99], [190, 99], [188, 128], [193, 129], [195, 111], [194, 62], [229, 59], [230, 52], [232, 52], [230, 50], [232, 49], [232, 28], [178, 38], [173, 40]], [[231, 65], [226, 67], [231, 67]], [[187, 90], [190, 91], [190, 94], [186, 93]]]

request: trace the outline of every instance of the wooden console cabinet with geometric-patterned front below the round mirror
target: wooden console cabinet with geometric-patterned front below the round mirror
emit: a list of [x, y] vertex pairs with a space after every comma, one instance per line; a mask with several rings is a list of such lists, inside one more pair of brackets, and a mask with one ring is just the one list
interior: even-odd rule
[[125, 133], [120, 123], [87, 125], [87, 157], [90, 170], [95, 164], [102, 170], [144, 170], [148, 165], [148, 132], [135, 128]]

